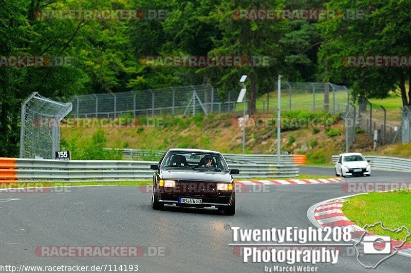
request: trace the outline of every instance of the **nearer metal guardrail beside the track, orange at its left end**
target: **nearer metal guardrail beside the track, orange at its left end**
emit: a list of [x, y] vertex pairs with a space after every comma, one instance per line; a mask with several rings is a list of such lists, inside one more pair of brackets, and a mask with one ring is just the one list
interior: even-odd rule
[[[150, 164], [156, 161], [123, 160], [49, 160], [0, 158], [0, 183], [25, 181], [130, 181], [151, 179]], [[297, 165], [261, 165], [230, 163], [239, 169], [239, 178], [297, 177]]]

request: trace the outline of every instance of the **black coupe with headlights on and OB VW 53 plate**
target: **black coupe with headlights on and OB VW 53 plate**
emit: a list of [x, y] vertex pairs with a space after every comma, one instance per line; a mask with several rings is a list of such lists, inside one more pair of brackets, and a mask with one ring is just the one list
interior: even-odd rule
[[235, 214], [235, 184], [221, 153], [196, 149], [170, 149], [159, 164], [152, 164], [152, 207], [216, 207], [225, 215]]

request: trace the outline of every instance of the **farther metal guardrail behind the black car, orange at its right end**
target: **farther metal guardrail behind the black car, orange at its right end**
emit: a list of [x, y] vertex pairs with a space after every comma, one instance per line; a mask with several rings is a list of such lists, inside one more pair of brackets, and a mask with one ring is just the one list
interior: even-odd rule
[[[105, 148], [105, 150], [112, 150]], [[135, 159], [141, 157], [158, 157], [163, 156], [165, 151], [148, 151], [137, 149], [120, 149], [123, 153], [124, 159]], [[227, 163], [256, 163], [256, 164], [274, 164], [277, 162], [277, 155], [275, 154], [222, 154]], [[305, 165], [306, 155], [281, 155], [281, 164], [296, 164]]]

